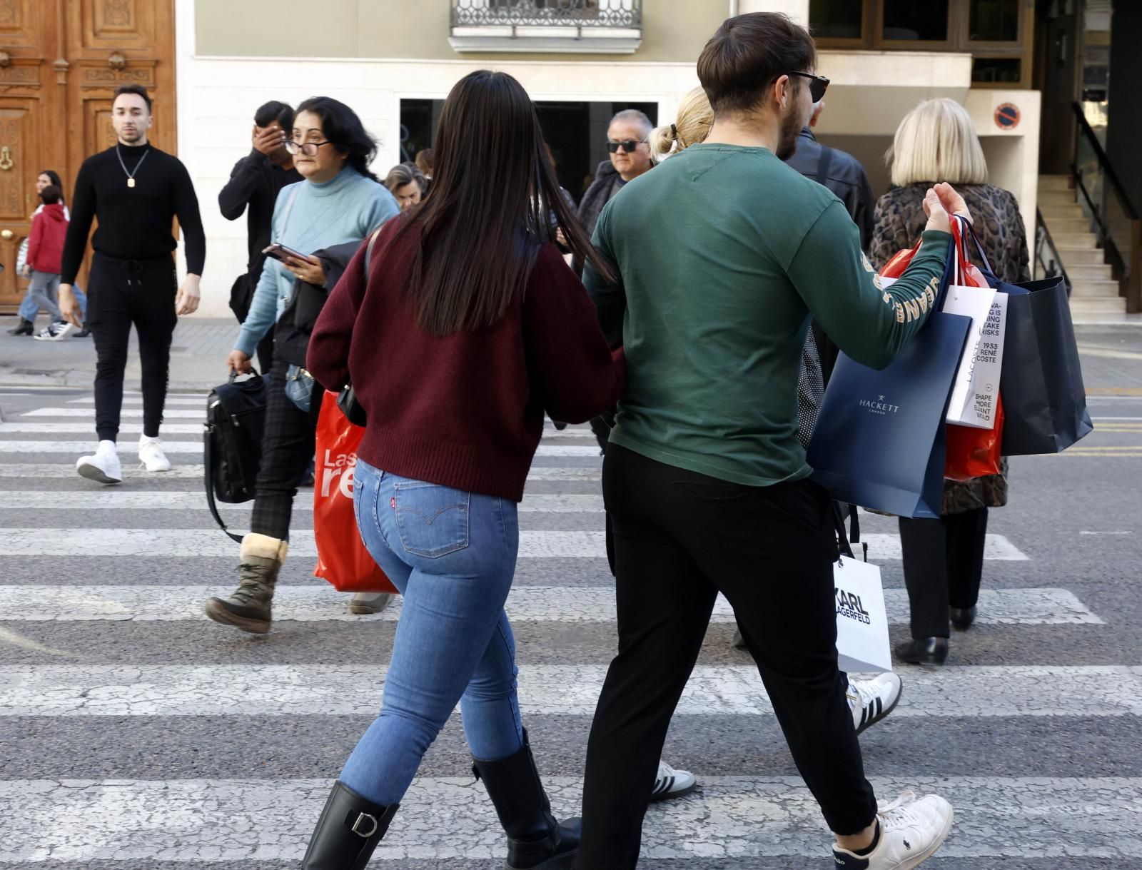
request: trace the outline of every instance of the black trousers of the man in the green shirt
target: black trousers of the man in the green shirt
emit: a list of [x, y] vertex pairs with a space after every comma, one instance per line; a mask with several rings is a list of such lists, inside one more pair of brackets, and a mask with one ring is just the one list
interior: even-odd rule
[[637, 863], [667, 727], [718, 591], [829, 827], [868, 827], [876, 799], [837, 668], [828, 492], [811, 481], [726, 483], [611, 444], [603, 497], [614, 524], [619, 652], [587, 746], [576, 865]]

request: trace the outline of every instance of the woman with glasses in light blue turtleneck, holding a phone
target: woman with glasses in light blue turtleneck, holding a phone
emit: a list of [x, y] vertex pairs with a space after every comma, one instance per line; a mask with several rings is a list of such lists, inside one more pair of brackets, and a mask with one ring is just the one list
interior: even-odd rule
[[[231, 371], [250, 371], [250, 357], [281, 316], [297, 281], [325, 287], [322, 261], [313, 252], [361, 242], [400, 214], [392, 194], [369, 171], [376, 143], [352, 108], [330, 97], [313, 97], [298, 106], [291, 140], [293, 166], [304, 182], [283, 187], [274, 206], [272, 239], [304, 258], [267, 258], [234, 343]], [[327, 287], [331, 290], [331, 287]], [[278, 572], [286, 558], [297, 484], [313, 458], [321, 387], [314, 387], [309, 411], [286, 395], [289, 363], [275, 354], [266, 395], [262, 465], [255, 491], [250, 533], [242, 539], [239, 587], [228, 598], [207, 602], [207, 615], [243, 631], [270, 630]], [[360, 601], [359, 601], [360, 598]], [[357, 596], [354, 612], [375, 612], [387, 596]]]

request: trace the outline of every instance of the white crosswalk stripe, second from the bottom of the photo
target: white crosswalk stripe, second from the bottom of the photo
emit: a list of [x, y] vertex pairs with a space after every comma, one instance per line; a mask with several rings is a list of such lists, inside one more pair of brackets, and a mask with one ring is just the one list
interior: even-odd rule
[[[590, 716], [606, 664], [521, 664], [520, 708]], [[1142, 716], [1142, 667], [944, 667], [903, 671], [894, 717]], [[385, 668], [344, 664], [0, 667], [0, 716], [315, 716], [376, 714]], [[770, 715], [757, 669], [699, 666], [678, 716]], [[1142, 723], [1140, 723], [1142, 724]]]

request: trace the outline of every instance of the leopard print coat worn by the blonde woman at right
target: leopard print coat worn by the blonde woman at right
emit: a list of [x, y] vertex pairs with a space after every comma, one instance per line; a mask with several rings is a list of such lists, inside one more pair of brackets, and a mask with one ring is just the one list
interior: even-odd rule
[[[912, 248], [919, 241], [920, 232], [927, 223], [927, 217], [924, 215], [924, 193], [931, 186], [931, 183], [920, 183], [893, 187], [877, 201], [872, 217], [872, 242], [868, 253], [877, 271], [883, 268], [896, 251]], [[990, 184], [957, 185], [956, 191], [964, 198], [972, 212], [975, 234], [983, 245], [991, 271], [1004, 281], [1030, 281], [1027, 233], [1023, 231], [1023, 218], [1019, 214], [1015, 198]], [[978, 255], [973, 259], [978, 261]], [[963, 483], [944, 481], [946, 515], [983, 507], [1003, 507], [1006, 504], [1006, 459], [1003, 461], [1002, 474]]]

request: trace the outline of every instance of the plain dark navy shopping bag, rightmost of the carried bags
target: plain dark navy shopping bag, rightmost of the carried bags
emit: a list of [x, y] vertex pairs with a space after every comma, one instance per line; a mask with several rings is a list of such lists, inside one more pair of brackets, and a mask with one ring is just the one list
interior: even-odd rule
[[996, 277], [975, 232], [988, 283], [1008, 293], [999, 389], [1004, 456], [1060, 453], [1094, 430], [1062, 277], [1011, 284]]

